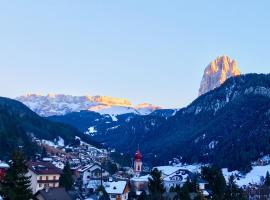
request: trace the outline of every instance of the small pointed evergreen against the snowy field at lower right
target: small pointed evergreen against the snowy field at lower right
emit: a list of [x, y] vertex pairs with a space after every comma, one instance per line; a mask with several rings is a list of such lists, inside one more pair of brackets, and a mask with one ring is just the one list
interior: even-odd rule
[[229, 182], [226, 187], [224, 199], [226, 200], [227, 199], [228, 200], [246, 200], [247, 199], [244, 191], [236, 185], [233, 175], [229, 177]]

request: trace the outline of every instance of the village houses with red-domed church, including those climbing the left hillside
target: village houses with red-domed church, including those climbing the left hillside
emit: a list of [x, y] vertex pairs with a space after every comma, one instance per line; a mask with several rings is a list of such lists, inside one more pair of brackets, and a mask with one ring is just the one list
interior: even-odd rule
[[[28, 176], [31, 176], [31, 189], [36, 199], [47, 200], [52, 196], [56, 199], [98, 199], [97, 189], [103, 186], [112, 200], [127, 200], [132, 191], [140, 195], [143, 191], [149, 193], [149, 172], [143, 168], [142, 154], [138, 150], [135, 153], [133, 168], [122, 168], [116, 174], [110, 174], [109, 170], [102, 166], [102, 161], [108, 159], [107, 150], [97, 149], [91, 145], [81, 143], [79, 147], [54, 146], [48, 141], [36, 141], [48, 152], [47, 157], [38, 157], [38, 161], [27, 163]], [[70, 163], [75, 180], [76, 192], [67, 193], [59, 188], [59, 179], [66, 162]], [[0, 181], [3, 179], [8, 164], [0, 163]], [[171, 187], [183, 186], [193, 177], [193, 172], [180, 166], [156, 167], [162, 172], [162, 180], [166, 191]], [[205, 189], [207, 182], [199, 182], [200, 189], [205, 196], [210, 194]]]

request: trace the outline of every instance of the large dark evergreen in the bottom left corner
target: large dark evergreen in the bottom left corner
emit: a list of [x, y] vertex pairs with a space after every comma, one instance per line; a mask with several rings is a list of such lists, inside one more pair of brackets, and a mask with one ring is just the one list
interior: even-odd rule
[[31, 177], [27, 176], [27, 172], [22, 152], [14, 152], [10, 168], [0, 187], [5, 200], [30, 200], [32, 198]]

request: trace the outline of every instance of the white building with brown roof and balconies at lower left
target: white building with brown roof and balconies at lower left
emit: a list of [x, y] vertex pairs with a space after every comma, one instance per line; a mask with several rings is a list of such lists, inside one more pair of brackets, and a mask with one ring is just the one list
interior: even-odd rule
[[33, 194], [46, 188], [59, 187], [60, 169], [49, 162], [28, 162], [28, 176], [31, 176]]

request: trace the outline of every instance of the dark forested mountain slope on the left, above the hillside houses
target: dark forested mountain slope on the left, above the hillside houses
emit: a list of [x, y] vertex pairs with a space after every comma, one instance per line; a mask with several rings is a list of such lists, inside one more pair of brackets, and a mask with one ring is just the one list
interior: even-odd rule
[[74, 144], [76, 136], [97, 146], [90, 137], [76, 128], [52, 122], [38, 116], [19, 101], [0, 97], [0, 158], [8, 156], [18, 147], [23, 147], [28, 155], [36, 153], [33, 138], [53, 141], [61, 137], [66, 144]]

